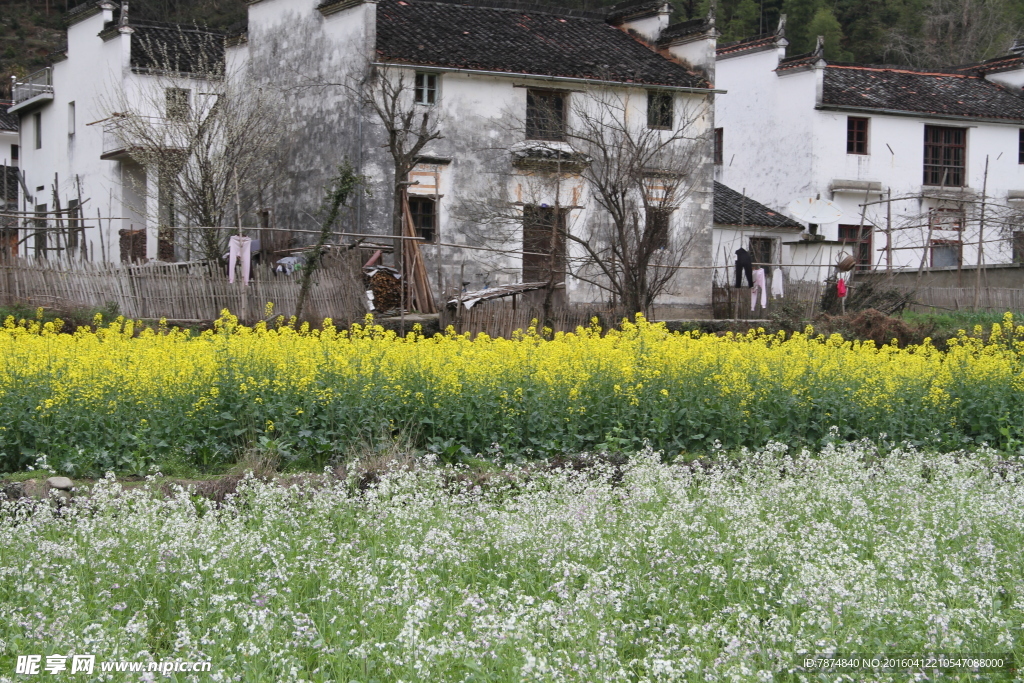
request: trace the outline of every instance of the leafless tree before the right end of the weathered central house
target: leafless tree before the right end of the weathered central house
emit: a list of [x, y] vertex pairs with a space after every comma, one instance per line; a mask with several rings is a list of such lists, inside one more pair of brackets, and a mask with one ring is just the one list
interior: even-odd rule
[[604, 214], [586, 230], [566, 232], [583, 254], [573, 275], [631, 312], [650, 310], [707, 228], [699, 200], [711, 169], [710, 102], [641, 92], [638, 98], [602, 90], [577, 99], [567, 136], [588, 161], [581, 174]]

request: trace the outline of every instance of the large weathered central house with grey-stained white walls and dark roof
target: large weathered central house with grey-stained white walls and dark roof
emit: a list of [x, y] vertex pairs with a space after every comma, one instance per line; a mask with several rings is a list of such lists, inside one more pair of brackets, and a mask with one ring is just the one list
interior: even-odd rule
[[[286, 90], [299, 113], [285, 133], [291, 152], [275, 211], [279, 222], [301, 227], [314, 226], [310, 207], [347, 158], [375, 198], [359, 200], [356, 231], [391, 231], [393, 160], [379, 116], [359, 105], [355, 91], [372, 87], [371, 72], [409, 86], [415, 116], [437, 121], [440, 133], [408, 178], [435, 290], [544, 280], [547, 258], [534, 255], [531, 230], [558, 221], [586, 231], [602, 220], [573, 169], [580, 160], [566, 131], [607, 99], [622, 104], [630, 125], [645, 126], [651, 102], [668, 102], [668, 119], [651, 126], [690, 119], [693, 139], [685, 144], [700, 157], [697, 168], [685, 169], [696, 186], [671, 212], [669, 239], [687, 241], [683, 265], [707, 266], [715, 33], [703, 22], [670, 26], [669, 16], [659, 0], [600, 13], [514, 2], [256, 0], [245, 31], [228, 40], [227, 60]], [[332, 85], [309, 87], [325, 83]], [[556, 248], [570, 271], [585, 257], [572, 241]], [[570, 300], [606, 297], [572, 274], [565, 278]], [[710, 275], [679, 268], [660, 303], [706, 309]]]

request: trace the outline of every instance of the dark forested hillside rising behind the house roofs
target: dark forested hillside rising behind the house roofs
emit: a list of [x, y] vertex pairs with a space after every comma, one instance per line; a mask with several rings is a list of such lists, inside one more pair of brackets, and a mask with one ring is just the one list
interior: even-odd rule
[[[88, 0], [92, 1], [92, 0]], [[708, 13], [712, 0], [671, 0], [676, 19]], [[0, 0], [0, 97], [10, 76], [46, 65], [63, 42], [63, 13], [81, 0]], [[540, 0], [597, 9], [605, 0]], [[223, 28], [245, 18], [245, 0], [131, 0], [131, 16]], [[773, 31], [784, 13], [790, 53], [825, 36], [833, 60], [941, 67], [1006, 52], [1024, 27], [1024, 0], [718, 0], [721, 42]]]

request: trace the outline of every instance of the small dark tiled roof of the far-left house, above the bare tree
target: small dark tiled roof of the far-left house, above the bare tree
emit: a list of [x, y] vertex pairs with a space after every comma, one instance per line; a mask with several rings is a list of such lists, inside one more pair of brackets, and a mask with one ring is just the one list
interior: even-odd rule
[[173, 24], [131, 24], [131, 66], [179, 74], [222, 73], [221, 33]]

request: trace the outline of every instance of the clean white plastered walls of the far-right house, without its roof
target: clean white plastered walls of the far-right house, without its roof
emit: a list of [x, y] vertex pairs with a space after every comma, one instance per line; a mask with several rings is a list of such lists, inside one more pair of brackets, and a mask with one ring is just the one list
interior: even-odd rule
[[[893, 197], [921, 195], [924, 180], [925, 126], [964, 127], [967, 132], [968, 199], [980, 202], [984, 181], [985, 157], [989, 159], [987, 196], [990, 202], [1006, 206], [1008, 193], [1024, 190], [1024, 166], [1018, 163], [1020, 126], [978, 120], [946, 120], [921, 116], [895, 116], [878, 112], [823, 111], [817, 108], [814, 71], [776, 74], [775, 54], [770, 51], [720, 59], [718, 86], [728, 94], [718, 97], [717, 125], [724, 128], [724, 163], [720, 170], [723, 182], [752, 199], [784, 212], [794, 199], [817, 197], [831, 200], [842, 211], [840, 221], [822, 225], [819, 233], [826, 240], [839, 238], [840, 223], [859, 225], [860, 204], [865, 201], [863, 186], [843, 189], [842, 181], [879, 183], [882, 191], [867, 193], [869, 202], [883, 199], [886, 188]], [[866, 117], [868, 154], [847, 154], [847, 118]], [[837, 186], [839, 186], [838, 189]], [[834, 191], [835, 189], [835, 191]], [[950, 188], [946, 194], [956, 195]], [[893, 203], [894, 226], [915, 225], [894, 230], [892, 259], [895, 267], [916, 267], [922, 257], [926, 266], [932, 254], [922, 249], [928, 239], [927, 216], [930, 209], [956, 205], [932, 199], [912, 199]], [[977, 205], [967, 205], [977, 206]], [[989, 207], [989, 221], [993, 211]], [[886, 206], [867, 208], [865, 223], [884, 229]], [[886, 264], [886, 234], [876, 229], [872, 240], [874, 263]], [[985, 241], [996, 240], [996, 228], [989, 224]], [[977, 262], [977, 227], [970, 222], [964, 232], [936, 230], [932, 240], [961, 240], [963, 263]], [[914, 247], [914, 248], [907, 248]], [[1009, 241], [985, 244], [985, 263], [1006, 263], [1012, 258]], [[882, 251], [880, 251], [882, 250]], [[805, 250], [806, 251], [806, 250]], [[792, 253], [783, 258], [793, 258]], [[791, 260], [792, 262], [792, 260]]]

